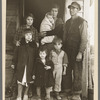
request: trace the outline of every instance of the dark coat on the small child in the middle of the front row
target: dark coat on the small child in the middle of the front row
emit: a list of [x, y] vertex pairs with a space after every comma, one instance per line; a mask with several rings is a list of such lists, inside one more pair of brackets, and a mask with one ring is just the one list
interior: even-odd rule
[[35, 64], [35, 85], [39, 87], [51, 87], [54, 85], [53, 79], [53, 62], [50, 60], [46, 61], [46, 65], [51, 66], [51, 69], [46, 70], [45, 65], [40, 59], [37, 59]]

